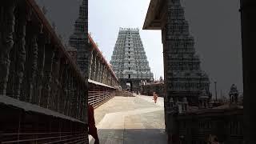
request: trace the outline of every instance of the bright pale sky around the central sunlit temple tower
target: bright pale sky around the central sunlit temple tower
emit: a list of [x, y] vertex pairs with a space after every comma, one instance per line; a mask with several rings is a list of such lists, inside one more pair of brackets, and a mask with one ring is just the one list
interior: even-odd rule
[[89, 0], [89, 31], [110, 62], [119, 27], [139, 28], [154, 78], [163, 76], [161, 31], [142, 30], [150, 0]]

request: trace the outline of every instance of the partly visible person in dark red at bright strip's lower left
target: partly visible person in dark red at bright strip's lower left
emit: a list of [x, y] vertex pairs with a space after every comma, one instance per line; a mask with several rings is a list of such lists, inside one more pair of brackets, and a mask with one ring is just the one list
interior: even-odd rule
[[97, 128], [95, 126], [95, 120], [94, 120], [94, 107], [88, 104], [87, 112], [88, 112], [88, 125], [89, 125], [88, 134], [90, 134], [95, 139], [94, 144], [99, 144]]

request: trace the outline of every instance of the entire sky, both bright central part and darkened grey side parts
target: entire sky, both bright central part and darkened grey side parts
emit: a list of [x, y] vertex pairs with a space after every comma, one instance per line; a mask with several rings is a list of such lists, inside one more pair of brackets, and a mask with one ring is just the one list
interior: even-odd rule
[[[78, 17], [82, 0], [36, 0], [46, 6], [46, 16], [55, 22], [65, 42]], [[211, 81], [217, 81], [218, 94], [234, 83], [242, 91], [242, 52], [239, 0], [181, 0], [185, 6], [195, 49]], [[89, 31], [110, 61], [119, 27], [138, 27], [151, 71], [163, 76], [162, 41], [159, 30], [142, 30], [150, 0], [89, 0]], [[211, 89], [214, 88], [211, 85]]]

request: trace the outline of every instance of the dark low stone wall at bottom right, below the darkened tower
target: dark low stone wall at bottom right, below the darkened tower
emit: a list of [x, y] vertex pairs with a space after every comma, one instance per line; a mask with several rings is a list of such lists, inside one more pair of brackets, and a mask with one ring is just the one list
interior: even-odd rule
[[228, 144], [243, 142], [242, 109], [208, 109], [178, 115], [182, 143], [206, 143], [211, 138]]

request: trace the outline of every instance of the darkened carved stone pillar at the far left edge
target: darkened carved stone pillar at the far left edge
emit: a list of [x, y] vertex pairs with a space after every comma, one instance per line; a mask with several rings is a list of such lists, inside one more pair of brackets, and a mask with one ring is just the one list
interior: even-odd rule
[[10, 50], [14, 46], [15, 0], [3, 2], [0, 36], [0, 94], [6, 94], [9, 76]]

